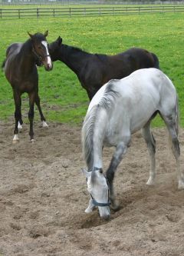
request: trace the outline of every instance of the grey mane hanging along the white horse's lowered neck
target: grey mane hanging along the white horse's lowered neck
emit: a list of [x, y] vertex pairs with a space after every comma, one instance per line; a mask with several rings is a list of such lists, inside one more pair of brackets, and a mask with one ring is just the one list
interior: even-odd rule
[[94, 165], [94, 125], [97, 116], [98, 105], [94, 105], [84, 118], [82, 128], [82, 148], [88, 171], [92, 171]]

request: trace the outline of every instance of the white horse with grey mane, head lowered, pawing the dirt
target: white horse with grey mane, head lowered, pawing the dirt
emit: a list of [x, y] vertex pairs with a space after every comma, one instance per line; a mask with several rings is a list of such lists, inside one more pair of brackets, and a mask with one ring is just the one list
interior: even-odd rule
[[[184, 188], [184, 174], [179, 165], [178, 98], [172, 81], [156, 68], [134, 71], [120, 80], [110, 80], [97, 91], [90, 102], [82, 128], [84, 159], [87, 163], [87, 190], [90, 192], [90, 212], [99, 208], [101, 218], [110, 218], [112, 208], [117, 208], [113, 193], [113, 177], [117, 166], [130, 146], [131, 135], [142, 128], [151, 159], [147, 185], [153, 185], [156, 176], [155, 139], [150, 122], [157, 113], [163, 118], [172, 141], [176, 158], [179, 189]], [[102, 151], [104, 145], [116, 150], [103, 174]]]

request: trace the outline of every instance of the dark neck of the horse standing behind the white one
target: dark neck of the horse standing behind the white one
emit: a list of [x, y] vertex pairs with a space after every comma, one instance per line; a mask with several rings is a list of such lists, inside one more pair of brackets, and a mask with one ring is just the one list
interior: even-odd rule
[[61, 45], [59, 59], [78, 75], [90, 55], [90, 53], [83, 52], [79, 48], [74, 48], [69, 45]]

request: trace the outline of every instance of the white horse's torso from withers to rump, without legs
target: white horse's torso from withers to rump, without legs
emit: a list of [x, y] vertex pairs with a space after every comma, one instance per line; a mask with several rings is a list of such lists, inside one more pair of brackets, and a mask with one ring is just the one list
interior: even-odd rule
[[145, 68], [126, 78], [109, 81], [94, 95], [88, 111], [94, 105], [108, 108], [107, 130], [118, 134], [122, 128], [133, 133], [146, 125], [156, 111], [174, 108], [176, 98], [172, 81], [162, 71]]

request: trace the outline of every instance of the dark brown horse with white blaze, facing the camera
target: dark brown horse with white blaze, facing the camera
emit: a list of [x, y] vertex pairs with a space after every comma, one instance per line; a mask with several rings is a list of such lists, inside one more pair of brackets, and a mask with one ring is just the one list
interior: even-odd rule
[[2, 63], [5, 70], [5, 76], [13, 89], [15, 101], [15, 130], [13, 142], [18, 141], [18, 128], [23, 123], [21, 119], [21, 95], [24, 92], [29, 96], [29, 112], [30, 121], [30, 139], [34, 141], [33, 118], [34, 105], [38, 106], [43, 126], [48, 126], [44, 115], [41, 111], [40, 98], [38, 96], [38, 71], [36, 65], [44, 65], [45, 70], [52, 69], [51, 57], [48, 53], [47, 35], [48, 31], [43, 34], [36, 33], [31, 35], [25, 43], [14, 43], [6, 50], [6, 59]]

